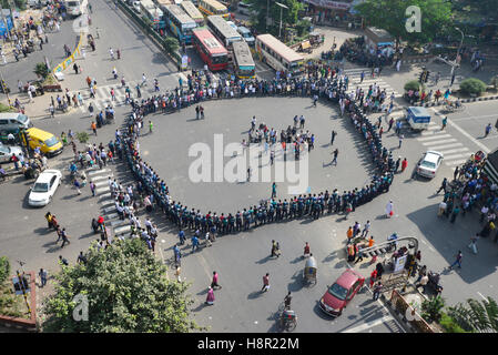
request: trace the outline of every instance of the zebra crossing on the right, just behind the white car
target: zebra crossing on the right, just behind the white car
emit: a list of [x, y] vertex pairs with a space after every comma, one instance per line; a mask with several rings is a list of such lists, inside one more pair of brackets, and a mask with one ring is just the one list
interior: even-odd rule
[[441, 130], [441, 126], [434, 122], [430, 122], [427, 130], [420, 133], [417, 141], [427, 150], [441, 153], [445, 156], [443, 162], [450, 168], [465, 163], [472, 153], [458, 139]]

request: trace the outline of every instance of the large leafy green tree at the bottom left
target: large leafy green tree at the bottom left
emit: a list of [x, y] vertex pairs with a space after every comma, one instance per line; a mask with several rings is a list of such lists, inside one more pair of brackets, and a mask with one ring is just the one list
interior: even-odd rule
[[[63, 266], [55, 292], [44, 305], [48, 332], [186, 333], [199, 328], [189, 320], [193, 303], [189, 285], [170, 281], [164, 266], [139, 239], [99, 251], [94, 245], [87, 265]], [[89, 320], [72, 317], [77, 295], [88, 297]]]

